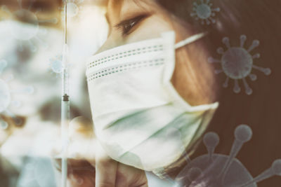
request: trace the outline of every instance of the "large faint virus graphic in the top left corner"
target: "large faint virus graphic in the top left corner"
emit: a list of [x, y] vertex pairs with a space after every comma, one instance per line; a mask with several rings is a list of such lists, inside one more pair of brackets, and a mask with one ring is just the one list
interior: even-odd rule
[[[39, 41], [44, 47], [48, 45], [44, 43], [39, 37], [39, 34], [44, 34], [45, 29], [39, 27], [40, 23], [57, 23], [56, 18], [50, 20], [39, 20], [37, 13], [41, 10], [37, 10], [36, 13], [33, 13], [31, 10], [32, 4], [29, 8], [25, 9], [22, 7], [22, 1], [18, 0], [20, 8], [18, 11], [10, 11], [7, 6], [1, 6], [1, 10], [8, 15], [7, 27], [10, 30], [11, 36], [20, 42], [20, 49], [22, 49], [22, 43], [27, 42], [30, 45], [32, 52], [37, 51], [37, 47], [34, 45], [34, 41]], [[21, 22], [16, 22], [19, 20]], [[27, 22], [29, 24], [23, 23]]]

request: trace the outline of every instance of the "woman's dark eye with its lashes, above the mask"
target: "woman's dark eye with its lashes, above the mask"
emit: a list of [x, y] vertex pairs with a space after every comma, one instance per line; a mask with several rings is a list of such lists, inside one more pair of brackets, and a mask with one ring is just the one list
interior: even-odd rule
[[138, 15], [135, 18], [124, 20], [118, 23], [117, 25], [115, 25], [115, 27], [117, 27], [117, 29], [122, 29], [122, 35], [130, 34], [131, 29], [133, 29], [133, 27], [135, 27], [138, 22], [141, 22], [141, 20], [143, 20], [147, 16], [148, 15]]

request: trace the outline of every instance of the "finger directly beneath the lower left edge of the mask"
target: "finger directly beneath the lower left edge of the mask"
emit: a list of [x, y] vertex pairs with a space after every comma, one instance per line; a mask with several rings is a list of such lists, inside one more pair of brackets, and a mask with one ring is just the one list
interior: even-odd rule
[[100, 146], [96, 150], [96, 187], [115, 187], [117, 162]]

